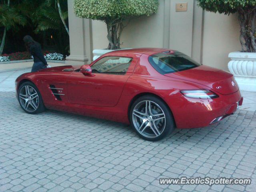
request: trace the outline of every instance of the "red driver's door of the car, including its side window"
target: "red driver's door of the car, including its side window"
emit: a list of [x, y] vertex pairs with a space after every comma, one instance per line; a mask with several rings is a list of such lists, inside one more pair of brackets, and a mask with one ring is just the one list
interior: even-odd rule
[[91, 65], [92, 74], [73, 72], [68, 85], [69, 102], [115, 106], [137, 61], [136, 57], [106, 56]]

